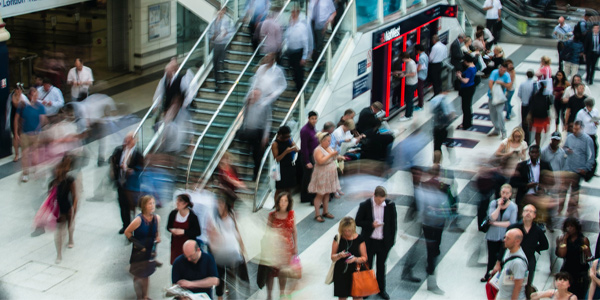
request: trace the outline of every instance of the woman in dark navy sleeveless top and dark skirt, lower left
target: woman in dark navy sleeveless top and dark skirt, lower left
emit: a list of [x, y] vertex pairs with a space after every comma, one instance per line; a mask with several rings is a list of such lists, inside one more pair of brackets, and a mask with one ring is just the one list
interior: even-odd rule
[[150, 275], [156, 271], [156, 244], [160, 243], [160, 216], [152, 196], [140, 198], [142, 212], [125, 229], [125, 236], [132, 242], [129, 273], [133, 275], [133, 288], [137, 299], [148, 299]]

